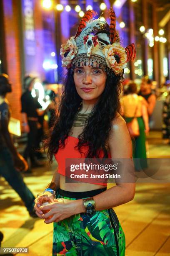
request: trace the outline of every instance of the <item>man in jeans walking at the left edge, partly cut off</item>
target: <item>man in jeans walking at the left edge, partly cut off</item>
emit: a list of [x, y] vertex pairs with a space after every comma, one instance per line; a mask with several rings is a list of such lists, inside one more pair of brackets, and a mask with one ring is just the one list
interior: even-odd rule
[[6, 74], [0, 74], [0, 175], [6, 179], [10, 186], [18, 193], [25, 203], [32, 217], [36, 217], [34, 207], [35, 197], [23, 181], [20, 171], [26, 170], [28, 165], [17, 152], [13, 139], [8, 131], [10, 110], [5, 98], [12, 92], [11, 84]]

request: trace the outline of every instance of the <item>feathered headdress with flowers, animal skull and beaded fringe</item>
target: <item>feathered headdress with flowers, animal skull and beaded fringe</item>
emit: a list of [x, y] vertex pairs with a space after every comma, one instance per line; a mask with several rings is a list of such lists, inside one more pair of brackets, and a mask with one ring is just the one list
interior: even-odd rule
[[89, 65], [93, 62], [104, 66], [107, 74], [121, 74], [127, 62], [136, 56], [135, 45], [130, 44], [125, 49], [120, 46], [120, 38], [116, 31], [115, 12], [110, 8], [110, 26], [100, 18], [93, 19], [96, 13], [87, 10], [81, 19], [75, 37], [62, 44], [60, 55], [62, 67]]

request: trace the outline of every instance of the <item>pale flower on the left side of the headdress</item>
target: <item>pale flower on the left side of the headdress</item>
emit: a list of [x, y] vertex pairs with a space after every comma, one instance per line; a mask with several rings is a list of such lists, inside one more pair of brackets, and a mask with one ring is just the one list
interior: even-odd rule
[[60, 49], [60, 55], [62, 56], [62, 67], [69, 68], [71, 66], [72, 59], [77, 54], [77, 45], [74, 40], [74, 36], [67, 40], [66, 44], [62, 44]]

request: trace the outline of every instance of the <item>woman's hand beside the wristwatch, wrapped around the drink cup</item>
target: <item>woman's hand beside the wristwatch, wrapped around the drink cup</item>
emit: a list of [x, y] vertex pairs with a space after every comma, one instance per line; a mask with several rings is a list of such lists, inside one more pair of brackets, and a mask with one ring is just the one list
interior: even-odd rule
[[[41, 218], [45, 219], [45, 223], [58, 222], [69, 218], [70, 216], [84, 212], [84, 205], [82, 200], [68, 200], [68, 199], [55, 199], [54, 202], [49, 205], [40, 206], [40, 211], [49, 210], [49, 212], [42, 214]], [[37, 215], [39, 217], [39, 215]], [[50, 217], [50, 218], [49, 218]]]

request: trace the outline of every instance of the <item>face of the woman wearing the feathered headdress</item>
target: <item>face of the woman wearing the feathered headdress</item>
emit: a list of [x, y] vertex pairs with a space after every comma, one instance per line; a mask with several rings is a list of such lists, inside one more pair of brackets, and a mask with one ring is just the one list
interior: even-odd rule
[[97, 102], [105, 89], [106, 78], [104, 69], [96, 67], [96, 62], [94, 62], [93, 67], [88, 67], [87, 64], [87, 66], [75, 67], [74, 69], [75, 88], [78, 95], [85, 101]]

